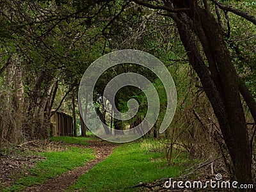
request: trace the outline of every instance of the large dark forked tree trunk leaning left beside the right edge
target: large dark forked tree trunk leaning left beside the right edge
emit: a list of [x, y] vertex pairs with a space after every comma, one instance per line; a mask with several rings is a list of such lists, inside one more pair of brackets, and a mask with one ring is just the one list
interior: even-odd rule
[[[250, 145], [246, 130], [243, 106], [239, 95], [237, 72], [232, 65], [221, 28], [207, 5], [200, 8], [196, 1], [173, 1], [175, 8], [188, 6], [187, 13], [172, 13], [177, 23], [180, 39], [205, 93], [218, 118], [234, 173], [240, 183], [252, 183]], [[207, 57], [205, 64], [199, 40]]]

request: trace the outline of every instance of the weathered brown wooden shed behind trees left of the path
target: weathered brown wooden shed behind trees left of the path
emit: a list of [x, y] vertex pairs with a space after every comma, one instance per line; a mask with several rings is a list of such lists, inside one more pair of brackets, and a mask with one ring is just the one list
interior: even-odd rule
[[51, 136], [73, 136], [73, 130], [72, 116], [58, 111], [51, 116]]

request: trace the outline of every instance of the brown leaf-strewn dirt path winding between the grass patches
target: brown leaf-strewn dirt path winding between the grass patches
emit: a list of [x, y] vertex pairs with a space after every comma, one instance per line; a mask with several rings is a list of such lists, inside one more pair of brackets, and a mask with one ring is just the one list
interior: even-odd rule
[[77, 181], [79, 176], [88, 172], [91, 168], [93, 168], [93, 166], [95, 166], [95, 164], [100, 163], [106, 159], [106, 157], [108, 157], [116, 147], [115, 143], [109, 143], [107, 141], [92, 140], [88, 141], [88, 143], [90, 143], [88, 148], [92, 148], [95, 151], [95, 159], [84, 164], [84, 166], [77, 167], [75, 170], [63, 173], [56, 178], [48, 179], [42, 184], [26, 188], [24, 191], [65, 191], [68, 186], [74, 184]]

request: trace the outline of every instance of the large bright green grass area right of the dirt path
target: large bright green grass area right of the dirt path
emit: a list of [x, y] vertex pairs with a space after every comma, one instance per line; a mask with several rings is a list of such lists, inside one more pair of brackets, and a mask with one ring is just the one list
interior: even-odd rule
[[147, 142], [126, 143], [111, 156], [79, 177], [68, 191], [132, 191], [139, 182], [152, 182], [163, 177], [177, 177], [188, 163], [186, 156], [175, 166], [166, 166], [164, 154], [148, 153]]

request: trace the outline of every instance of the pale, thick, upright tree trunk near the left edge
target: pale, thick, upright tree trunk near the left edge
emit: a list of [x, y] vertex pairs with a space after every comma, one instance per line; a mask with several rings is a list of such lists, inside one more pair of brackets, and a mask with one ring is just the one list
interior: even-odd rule
[[[5, 81], [6, 90], [2, 92], [2, 97], [6, 97], [2, 102], [2, 114], [3, 122], [1, 126], [5, 124], [3, 134], [6, 135], [9, 140], [19, 142], [23, 139], [22, 124], [26, 121], [26, 115], [24, 115], [24, 85], [22, 74], [22, 59], [19, 54], [13, 54], [10, 59], [8, 67], [6, 67]], [[3, 126], [4, 127], [4, 126]], [[3, 127], [1, 129], [3, 129]]]

